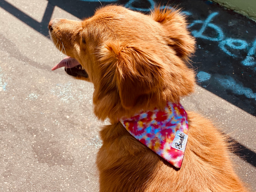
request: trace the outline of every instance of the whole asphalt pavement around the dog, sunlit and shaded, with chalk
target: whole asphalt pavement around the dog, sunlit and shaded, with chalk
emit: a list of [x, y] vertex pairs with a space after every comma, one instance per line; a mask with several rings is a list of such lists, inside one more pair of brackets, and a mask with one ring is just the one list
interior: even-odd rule
[[[117, 3], [143, 12], [156, 4]], [[236, 172], [256, 191], [256, 24], [209, 1], [174, 4], [197, 38], [199, 84], [181, 103], [228, 134]], [[96, 0], [0, 0], [0, 192], [98, 191], [98, 133], [108, 122], [92, 113], [92, 84], [64, 69], [51, 71], [65, 55], [47, 26], [53, 18], [89, 17], [100, 6]]]

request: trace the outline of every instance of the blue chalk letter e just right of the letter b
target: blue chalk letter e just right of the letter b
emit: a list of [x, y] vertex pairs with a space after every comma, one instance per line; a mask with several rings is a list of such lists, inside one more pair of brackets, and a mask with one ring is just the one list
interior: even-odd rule
[[[236, 45], [235, 43], [237, 43], [239, 45]], [[226, 54], [228, 54], [232, 57], [236, 57], [236, 55], [231, 53], [230, 51], [228, 51], [226, 49], [225, 45], [229, 46], [232, 49], [245, 49], [248, 46], [247, 42], [244, 40], [241, 40], [241, 39], [228, 38], [228, 39], [221, 41], [219, 44], [220, 49], [222, 49], [222, 51], [224, 51]]]

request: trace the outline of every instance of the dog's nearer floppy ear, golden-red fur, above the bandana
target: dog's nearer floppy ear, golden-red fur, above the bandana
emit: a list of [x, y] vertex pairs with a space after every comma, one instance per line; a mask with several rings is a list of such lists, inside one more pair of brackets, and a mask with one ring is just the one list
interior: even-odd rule
[[[138, 46], [106, 43], [102, 52], [104, 76], [112, 76], [124, 108], [135, 106], [138, 98], [155, 92], [161, 84], [162, 61]], [[111, 75], [111, 71], [113, 74]]]

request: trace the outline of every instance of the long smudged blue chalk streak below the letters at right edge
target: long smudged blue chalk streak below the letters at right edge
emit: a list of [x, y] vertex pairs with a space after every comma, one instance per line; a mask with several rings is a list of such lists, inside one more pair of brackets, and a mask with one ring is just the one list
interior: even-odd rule
[[232, 77], [220, 78], [217, 77], [216, 80], [225, 88], [229, 89], [235, 94], [245, 95], [247, 98], [256, 100], [256, 93], [252, 92], [252, 89], [248, 87], [244, 87], [240, 83], [236, 83], [236, 81]]

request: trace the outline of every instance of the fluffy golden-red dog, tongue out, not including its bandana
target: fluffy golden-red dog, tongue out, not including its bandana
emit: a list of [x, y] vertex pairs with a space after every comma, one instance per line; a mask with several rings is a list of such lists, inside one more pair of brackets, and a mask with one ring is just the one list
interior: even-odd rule
[[195, 38], [187, 26], [178, 9], [156, 7], [145, 15], [116, 5], [83, 21], [50, 21], [52, 41], [68, 56], [52, 70], [65, 67], [76, 79], [92, 82], [94, 114], [110, 122], [100, 131], [100, 192], [248, 191], [233, 170], [226, 137], [201, 115], [186, 113], [188, 139], [180, 167], [122, 123], [141, 111], [164, 110], [167, 102], [179, 104], [194, 91], [188, 61]]

